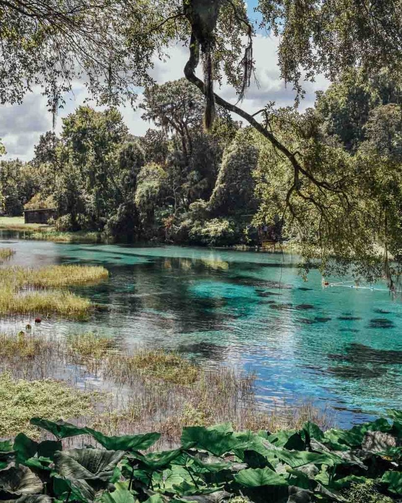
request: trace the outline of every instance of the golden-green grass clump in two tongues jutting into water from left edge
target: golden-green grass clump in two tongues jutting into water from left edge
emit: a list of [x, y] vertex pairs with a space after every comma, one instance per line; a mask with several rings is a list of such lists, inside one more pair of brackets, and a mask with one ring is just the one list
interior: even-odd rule
[[[84, 318], [92, 303], [68, 290], [53, 287], [85, 284], [108, 278], [98, 266], [50, 266], [42, 269], [10, 267], [0, 269], [0, 315], [52, 313]], [[41, 290], [35, 290], [41, 289]]]

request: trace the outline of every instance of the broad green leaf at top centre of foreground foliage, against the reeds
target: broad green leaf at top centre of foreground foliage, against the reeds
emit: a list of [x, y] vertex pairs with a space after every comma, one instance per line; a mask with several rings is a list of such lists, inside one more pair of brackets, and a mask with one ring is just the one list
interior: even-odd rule
[[187, 426], [183, 428], [181, 435], [183, 449], [197, 448], [209, 451], [214, 456], [222, 456], [234, 449], [245, 445], [242, 438], [233, 435], [232, 425], [211, 426]]

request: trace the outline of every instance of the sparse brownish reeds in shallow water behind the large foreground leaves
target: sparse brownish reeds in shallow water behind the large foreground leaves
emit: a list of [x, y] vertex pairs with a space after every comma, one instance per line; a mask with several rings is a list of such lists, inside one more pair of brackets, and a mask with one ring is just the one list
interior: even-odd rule
[[231, 422], [238, 430], [252, 431], [297, 428], [307, 420], [323, 429], [334, 425], [330, 410], [318, 410], [310, 403], [261, 409], [253, 374], [195, 365], [160, 349], [119, 351], [113, 340], [99, 334], [65, 339], [0, 334], [0, 346], [0, 369], [16, 377], [63, 378], [87, 387], [96, 382], [97, 390], [108, 394], [99, 395], [98, 402], [76, 420], [78, 424], [108, 435], [162, 432], [155, 449], [176, 445], [187, 425]]

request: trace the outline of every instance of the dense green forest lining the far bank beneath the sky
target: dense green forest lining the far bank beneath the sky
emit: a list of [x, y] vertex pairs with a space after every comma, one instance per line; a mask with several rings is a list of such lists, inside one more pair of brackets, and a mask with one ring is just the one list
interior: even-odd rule
[[276, 238], [300, 241], [310, 259], [344, 240], [355, 240], [363, 258], [386, 241], [398, 257], [401, 93], [386, 70], [367, 79], [354, 69], [319, 93], [314, 109], [275, 111], [269, 127], [320, 164], [335, 193], [293, 182], [286, 157], [221, 107], [206, 131], [205, 97], [184, 78], [146, 89], [142, 117], [153, 128], [141, 137], [116, 108], [82, 106], [63, 119], [60, 137], [41, 136], [30, 162], [1, 161], [3, 212], [55, 207], [58, 230], [129, 242], [253, 244], [267, 225]]

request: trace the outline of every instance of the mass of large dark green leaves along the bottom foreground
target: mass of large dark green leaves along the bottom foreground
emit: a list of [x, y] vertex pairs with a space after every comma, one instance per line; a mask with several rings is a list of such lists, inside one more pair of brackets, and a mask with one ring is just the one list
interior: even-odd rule
[[[0, 498], [18, 503], [388, 503], [402, 494], [402, 411], [388, 415], [392, 422], [380, 418], [326, 432], [311, 422], [274, 434], [234, 432], [230, 424], [190, 426], [183, 428], [179, 447], [163, 452], [148, 451], [159, 433], [108, 437], [35, 417], [31, 424], [56, 440], [37, 443], [21, 433], [14, 444], [1, 443]], [[77, 435], [102, 448], [63, 450], [62, 439]]]

